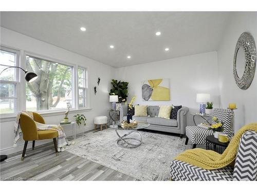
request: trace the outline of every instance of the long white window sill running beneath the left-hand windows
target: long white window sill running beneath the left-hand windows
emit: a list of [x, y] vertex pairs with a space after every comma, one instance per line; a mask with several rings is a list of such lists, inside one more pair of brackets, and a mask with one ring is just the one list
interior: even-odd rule
[[[69, 113], [79, 113], [79, 112], [84, 112], [84, 111], [90, 111], [92, 108], [83, 108], [83, 109], [78, 109], [78, 110], [70, 110]], [[64, 111], [51, 111], [51, 112], [42, 112], [39, 114], [42, 115], [42, 117], [50, 117], [53, 115], [64, 115], [65, 112], [67, 110]], [[16, 115], [10, 115], [10, 116], [5, 116], [5, 117], [1, 117], [0, 118], [0, 122], [8, 122], [8, 121], [14, 121], [16, 119]]]

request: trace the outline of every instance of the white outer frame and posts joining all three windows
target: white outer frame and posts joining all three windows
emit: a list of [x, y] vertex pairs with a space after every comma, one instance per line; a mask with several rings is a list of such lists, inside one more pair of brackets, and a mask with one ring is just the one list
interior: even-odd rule
[[[19, 64], [17, 64], [17, 67], [21, 67], [22, 69], [26, 69], [26, 55], [30, 55], [37, 58], [42, 58], [45, 60], [53, 61], [61, 63], [62, 65], [66, 65], [69, 67], [72, 67], [72, 80], [74, 82], [74, 86], [72, 86], [72, 92], [74, 92], [74, 98], [72, 102], [74, 105], [72, 105], [72, 109], [70, 109], [70, 112], [85, 112], [90, 111], [90, 90], [88, 89], [89, 82], [89, 67], [86, 65], [86, 63], [83, 63], [81, 65], [80, 63], [74, 64], [67, 61], [63, 61], [60, 59], [55, 59], [50, 56], [45, 56], [41, 54], [37, 54], [34, 52], [30, 52], [24, 49], [19, 49], [15, 47], [10, 47], [8, 45], [0, 44], [0, 48], [4, 48], [3, 50], [11, 50], [10, 52], [15, 51], [16, 53], [16, 59], [19, 59]], [[16, 61], [16, 63], [18, 60]], [[19, 66], [18, 66], [19, 65]], [[86, 83], [87, 83], [87, 92], [86, 92], [86, 107], [85, 108], [79, 108], [78, 102], [79, 102], [79, 95], [78, 95], [78, 67], [81, 67], [83, 69], [86, 69]], [[24, 71], [21, 69], [16, 68], [16, 112], [15, 113], [6, 113], [6, 114], [0, 114], [1, 122], [8, 122], [15, 120], [16, 114], [19, 111], [26, 110], [26, 80], [24, 78]], [[19, 80], [19, 81], [18, 81]], [[67, 111], [67, 109], [60, 109], [60, 110], [42, 110], [42, 111], [35, 111], [36, 113], [41, 114], [43, 117], [48, 117], [54, 115], [62, 115], [63, 112]]]

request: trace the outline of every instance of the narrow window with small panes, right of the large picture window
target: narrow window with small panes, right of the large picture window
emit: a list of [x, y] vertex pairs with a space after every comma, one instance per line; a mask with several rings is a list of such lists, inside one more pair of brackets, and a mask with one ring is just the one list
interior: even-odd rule
[[79, 67], [78, 68], [79, 108], [86, 107], [86, 91], [87, 91], [86, 79], [87, 79], [86, 69]]

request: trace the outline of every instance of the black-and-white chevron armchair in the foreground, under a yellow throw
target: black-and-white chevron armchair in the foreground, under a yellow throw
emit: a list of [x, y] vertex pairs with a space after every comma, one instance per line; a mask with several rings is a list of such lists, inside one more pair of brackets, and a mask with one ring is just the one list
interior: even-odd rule
[[247, 131], [240, 139], [234, 167], [207, 170], [174, 160], [171, 162], [174, 181], [255, 181], [257, 180], [257, 132]]

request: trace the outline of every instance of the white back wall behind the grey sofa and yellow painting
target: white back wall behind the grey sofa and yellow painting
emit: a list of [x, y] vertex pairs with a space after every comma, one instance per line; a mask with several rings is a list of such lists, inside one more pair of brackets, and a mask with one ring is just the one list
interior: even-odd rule
[[[172, 51], [172, 50], [171, 50]], [[178, 57], [142, 65], [116, 69], [116, 78], [128, 83], [128, 101], [136, 96], [136, 104], [183, 105], [190, 113], [198, 112], [197, 93], [210, 93], [214, 107], [219, 106], [217, 52]], [[169, 78], [170, 101], [143, 101], [141, 83], [147, 79]], [[188, 114], [188, 125], [193, 125]]]

